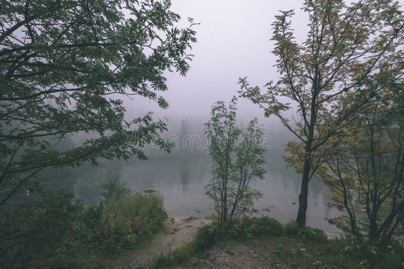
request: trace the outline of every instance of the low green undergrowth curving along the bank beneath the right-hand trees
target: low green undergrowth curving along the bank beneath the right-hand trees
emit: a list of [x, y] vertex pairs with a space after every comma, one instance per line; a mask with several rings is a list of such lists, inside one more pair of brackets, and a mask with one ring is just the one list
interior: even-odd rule
[[[271, 218], [243, 218], [213, 223], [198, 230], [194, 240], [160, 256], [154, 268], [197, 267], [199, 255], [214, 245], [248, 244], [257, 249], [257, 261], [282, 268], [402, 268], [404, 251], [393, 242], [370, 244], [341, 236], [329, 240], [323, 231], [286, 225]], [[292, 255], [292, 252], [294, 253]], [[276, 254], [274, 254], [276, 253]], [[253, 266], [254, 264], [251, 264]]]

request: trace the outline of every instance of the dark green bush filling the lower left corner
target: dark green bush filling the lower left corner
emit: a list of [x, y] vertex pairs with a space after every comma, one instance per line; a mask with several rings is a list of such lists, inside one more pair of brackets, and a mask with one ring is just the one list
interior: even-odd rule
[[[86, 252], [80, 251], [83, 225], [79, 219], [83, 207], [72, 194], [48, 191], [29, 206], [1, 212], [0, 267], [77, 267], [69, 264]], [[82, 260], [98, 259], [89, 253]], [[90, 267], [88, 263], [86, 267]]]

